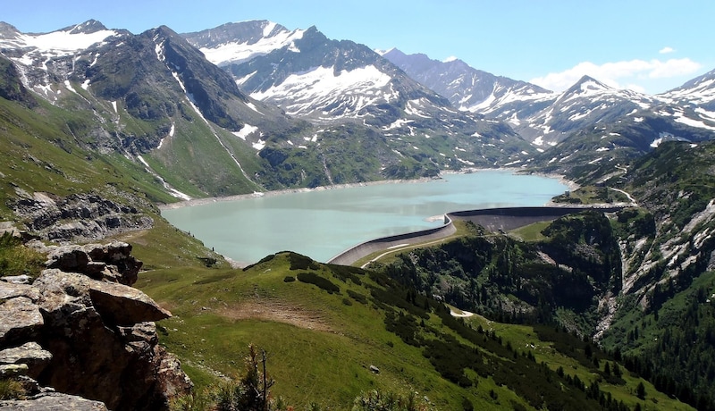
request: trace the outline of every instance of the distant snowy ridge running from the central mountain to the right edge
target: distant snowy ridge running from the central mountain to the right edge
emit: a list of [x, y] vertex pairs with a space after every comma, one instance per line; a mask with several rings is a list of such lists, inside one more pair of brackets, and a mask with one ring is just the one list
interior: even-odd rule
[[[667, 123], [715, 130], [715, 71], [658, 96], [610, 88], [588, 76], [562, 93], [552, 93], [524, 81], [476, 70], [459, 60], [439, 62], [426, 55], [405, 55], [397, 49], [383, 53], [383, 56], [449, 98], [460, 110], [508, 122], [539, 151], [556, 146], [575, 133], [588, 134], [599, 127], [643, 122], [653, 116]], [[594, 128], [596, 124], [599, 126]], [[663, 133], [650, 130], [659, 137], [651, 138], [645, 147], [669, 138], [702, 139], [698, 130], [681, 130], [680, 136], [669, 137], [669, 133], [678, 128], [665, 129], [668, 130]], [[642, 137], [635, 139], [638, 142], [634, 146], [642, 147]], [[596, 148], [601, 149], [599, 153], [605, 150], [604, 147]]]

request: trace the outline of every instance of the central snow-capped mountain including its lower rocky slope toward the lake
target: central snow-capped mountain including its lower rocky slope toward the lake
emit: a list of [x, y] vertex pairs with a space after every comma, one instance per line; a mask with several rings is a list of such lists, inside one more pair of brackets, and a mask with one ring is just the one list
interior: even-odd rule
[[501, 122], [459, 112], [369, 47], [331, 40], [315, 27], [243, 21], [184, 37], [249, 96], [308, 122], [376, 130], [401, 156], [418, 152], [453, 168], [506, 164], [531, 149]]

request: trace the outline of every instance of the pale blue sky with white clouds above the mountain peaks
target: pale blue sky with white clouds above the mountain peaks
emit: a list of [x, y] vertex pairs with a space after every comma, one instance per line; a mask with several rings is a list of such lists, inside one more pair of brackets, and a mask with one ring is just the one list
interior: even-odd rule
[[715, 69], [713, 0], [22, 0], [0, 21], [48, 32], [96, 19], [140, 33], [225, 22], [315, 25], [328, 38], [397, 47], [559, 91], [589, 74], [612, 87], [656, 94]]

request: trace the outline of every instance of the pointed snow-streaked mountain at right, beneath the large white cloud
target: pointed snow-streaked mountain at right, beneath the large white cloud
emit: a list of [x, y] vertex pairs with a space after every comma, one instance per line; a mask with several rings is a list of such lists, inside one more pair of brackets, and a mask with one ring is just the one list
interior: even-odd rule
[[701, 77], [686, 84], [692, 87], [645, 96], [609, 88], [589, 77], [581, 79], [547, 110], [529, 119], [532, 130], [562, 130], [558, 145], [535, 158], [534, 165], [549, 172], [578, 170], [581, 178], [605, 179], [626, 171], [624, 164], [663, 142], [697, 144], [715, 139], [715, 113], [693, 103], [711, 92], [710, 83]]

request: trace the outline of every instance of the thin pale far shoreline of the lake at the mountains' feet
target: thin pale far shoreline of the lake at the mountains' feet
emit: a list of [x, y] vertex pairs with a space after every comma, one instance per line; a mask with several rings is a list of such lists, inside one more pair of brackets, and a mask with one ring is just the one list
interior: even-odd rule
[[291, 194], [291, 193], [323, 191], [323, 190], [328, 190], [328, 189], [349, 189], [349, 188], [353, 188], [353, 187], [366, 187], [366, 186], [374, 186], [374, 185], [382, 185], [382, 184], [421, 183], [421, 182], [425, 182], [425, 181], [440, 180], [440, 179], [444, 178], [442, 176], [448, 176], [450, 174], [467, 174], [467, 173], [472, 173], [472, 172], [512, 172], [513, 174], [537, 175], [537, 176], [541, 176], [541, 177], [545, 177], [545, 178], [559, 180], [560, 183], [567, 186], [568, 189], [570, 189], [572, 191], [575, 189], [578, 189], [578, 187], [579, 187], [574, 181], [566, 180], [566, 178], [560, 174], [546, 174], [546, 173], [539, 173], [539, 172], [528, 172], [528, 171], [517, 169], [517, 168], [474, 168], [474, 169], [460, 170], [460, 171], [456, 171], [456, 172], [443, 171], [439, 177], [435, 177], [435, 178], [425, 177], [425, 178], [414, 179], [414, 180], [365, 181], [365, 182], [355, 182], [355, 183], [346, 183], [346, 184], [334, 184], [332, 186], [319, 186], [319, 187], [315, 187], [312, 189], [307, 189], [307, 188], [278, 189], [278, 190], [273, 190], [273, 191], [254, 192], [251, 194], [238, 194], [235, 196], [226, 196], [226, 197], [192, 198], [190, 200], [178, 201], [176, 203], [160, 204], [160, 205], [157, 205], [157, 207], [159, 208], [159, 210], [172, 210], [175, 208], [182, 208], [182, 207], [189, 207], [189, 206], [202, 206], [202, 205], [217, 203], [217, 202], [222, 202], [222, 201], [235, 201], [235, 200], [257, 198], [257, 197], [281, 196], [284, 194]]

